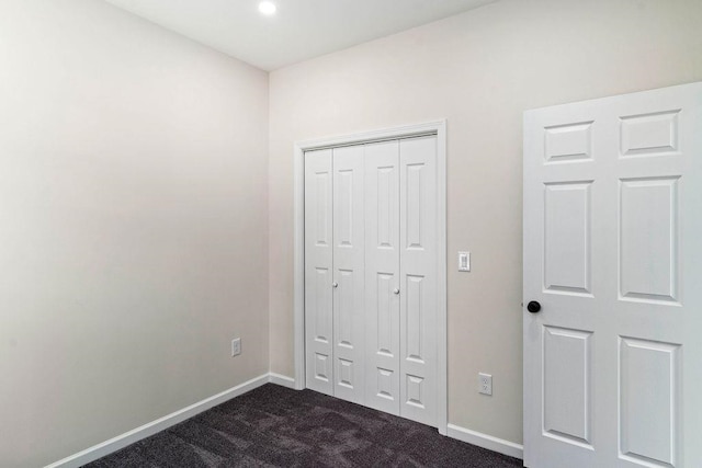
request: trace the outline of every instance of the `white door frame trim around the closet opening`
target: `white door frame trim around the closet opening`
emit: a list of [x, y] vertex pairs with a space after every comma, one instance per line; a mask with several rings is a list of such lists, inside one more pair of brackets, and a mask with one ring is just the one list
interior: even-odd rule
[[446, 310], [446, 121], [427, 122], [380, 130], [297, 141], [294, 145], [294, 333], [295, 388], [305, 388], [305, 151], [329, 147], [359, 145], [422, 135], [437, 136], [437, 327], [438, 336], [438, 418], [439, 432], [446, 435], [449, 423], [448, 392], [448, 310]]

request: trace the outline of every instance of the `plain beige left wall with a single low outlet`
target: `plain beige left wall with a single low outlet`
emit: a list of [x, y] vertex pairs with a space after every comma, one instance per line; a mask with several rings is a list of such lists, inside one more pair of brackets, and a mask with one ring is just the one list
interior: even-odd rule
[[268, 372], [268, 110], [107, 3], [0, 2], [0, 466]]

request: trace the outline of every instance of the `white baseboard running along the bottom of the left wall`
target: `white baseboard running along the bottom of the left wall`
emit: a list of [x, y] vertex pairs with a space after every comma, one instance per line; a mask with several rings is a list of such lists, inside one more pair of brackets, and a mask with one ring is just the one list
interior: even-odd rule
[[[286, 377], [280, 377], [281, 380], [286, 379]], [[94, 461], [98, 458], [102, 458], [105, 455], [110, 455], [113, 452], [126, 447], [127, 445], [134, 444], [135, 442], [156, 434], [157, 432], [163, 431], [170, 426], [183, 422], [189, 418], [200, 414], [203, 411], [216, 407], [217, 404], [222, 404], [225, 401], [238, 397], [239, 395], [246, 393], [249, 390], [253, 390], [254, 388], [268, 384], [269, 381], [273, 381], [272, 377], [269, 374], [263, 374], [262, 376], [252, 378], [249, 381], [245, 381], [241, 385], [237, 385], [236, 387], [233, 387], [213, 397], [206, 398], [202, 401], [191, 404], [190, 407], [183, 408], [182, 410], [176, 411], [173, 413], [165, 415], [163, 418], [159, 418], [156, 421], [144, 424], [140, 427], [134, 429], [129, 432], [125, 432], [122, 435], [117, 435], [116, 437], [113, 437], [101, 444], [93, 445], [90, 448], [86, 448], [82, 452], [66, 457], [63, 460], [58, 460], [52, 465], [46, 466], [45, 468], [77, 468], [90, 461]], [[274, 383], [278, 384], [278, 381]]]

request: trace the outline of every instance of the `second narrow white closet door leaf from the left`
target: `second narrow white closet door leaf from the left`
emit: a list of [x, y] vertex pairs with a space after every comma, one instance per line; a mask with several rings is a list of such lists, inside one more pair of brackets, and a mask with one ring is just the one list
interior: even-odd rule
[[363, 402], [363, 146], [333, 149], [335, 396]]

